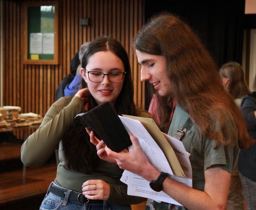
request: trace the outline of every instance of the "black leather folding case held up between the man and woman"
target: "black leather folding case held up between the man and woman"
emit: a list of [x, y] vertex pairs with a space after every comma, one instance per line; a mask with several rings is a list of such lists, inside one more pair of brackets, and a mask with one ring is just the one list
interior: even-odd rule
[[93, 130], [95, 136], [115, 152], [121, 152], [132, 145], [126, 128], [109, 101], [88, 112], [77, 114], [75, 119], [88, 130]]

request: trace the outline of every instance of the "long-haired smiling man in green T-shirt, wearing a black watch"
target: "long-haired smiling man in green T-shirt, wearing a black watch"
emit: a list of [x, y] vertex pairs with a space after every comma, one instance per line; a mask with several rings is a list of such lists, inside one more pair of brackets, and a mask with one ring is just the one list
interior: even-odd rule
[[[182, 204], [174, 207], [161, 202], [154, 207], [155, 203], [148, 200], [147, 210], [224, 210], [238, 146], [247, 148], [253, 140], [242, 113], [224, 89], [214, 60], [190, 26], [168, 13], [154, 16], [143, 26], [133, 46], [141, 65], [141, 80], [154, 88], [161, 130], [167, 130], [170, 136], [178, 129], [185, 133], [181, 141], [190, 153], [193, 187], [154, 168], [132, 134], [132, 150], [116, 153], [87, 130], [98, 156], [153, 181], [154, 186], [158, 180], [158, 189]], [[158, 190], [154, 186], [152, 189]]]

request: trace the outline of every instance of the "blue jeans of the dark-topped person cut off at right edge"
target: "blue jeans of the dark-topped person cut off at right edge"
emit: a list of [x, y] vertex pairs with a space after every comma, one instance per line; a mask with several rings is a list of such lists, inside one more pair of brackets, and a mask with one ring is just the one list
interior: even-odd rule
[[244, 199], [246, 201], [247, 210], [256, 209], [256, 182], [243, 176], [240, 172], [240, 180], [242, 182]]

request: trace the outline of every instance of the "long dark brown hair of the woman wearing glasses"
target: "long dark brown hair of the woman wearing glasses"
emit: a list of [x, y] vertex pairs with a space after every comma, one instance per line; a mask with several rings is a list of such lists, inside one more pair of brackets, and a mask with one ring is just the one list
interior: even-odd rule
[[[108, 50], [114, 52], [122, 60], [126, 71], [122, 90], [114, 106], [116, 112], [118, 114], [136, 115], [129, 57], [120, 42], [109, 36], [96, 38], [90, 42], [83, 54], [82, 67], [85, 69], [90, 56], [94, 53]], [[87, 83], [82, 79], [80, 88], [86, 87]], [[90, 92], [88, 92], [88, 110], [97, 105]], [[62, 144], [68, 168], [81, 173], [90, 173], [97, 166], [99, 157], [96, 147], [90, 143], [90, 136], [78, 121], [74, 121], [71, 128], [63, 135]]]

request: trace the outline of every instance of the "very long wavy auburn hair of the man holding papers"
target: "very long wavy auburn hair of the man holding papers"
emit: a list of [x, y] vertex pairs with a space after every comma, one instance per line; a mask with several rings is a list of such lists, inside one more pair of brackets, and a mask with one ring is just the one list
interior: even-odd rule
[[[235, 145], [236, 136], [240, 148], [253, 142], [234, 99], [224, 89], [214, 60], [188, 24], [172, 14], [158, 14], [138, 32], [134, 48], [166, 58], [172, 94], [159, 97], [156, 92], [161, 100], [158, 104], [177, 100], [202, 135], [217, 143]], [[163, 115], [160, 119], [170, 120], [170, 107], [159, 106], [158, 109]], [[234, 125], [232, 132], [226, 128], [227, 122]]]

